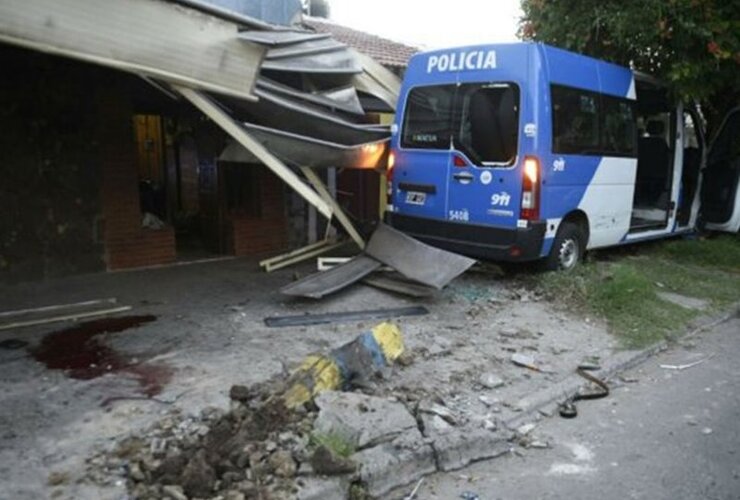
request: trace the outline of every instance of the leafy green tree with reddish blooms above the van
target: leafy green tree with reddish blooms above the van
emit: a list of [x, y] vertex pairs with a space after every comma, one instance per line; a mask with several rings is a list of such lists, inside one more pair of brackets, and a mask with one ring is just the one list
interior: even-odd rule
[[740, 104], [738, 0], [522, 0], [525, 40], [663, 78], [711, 129]]

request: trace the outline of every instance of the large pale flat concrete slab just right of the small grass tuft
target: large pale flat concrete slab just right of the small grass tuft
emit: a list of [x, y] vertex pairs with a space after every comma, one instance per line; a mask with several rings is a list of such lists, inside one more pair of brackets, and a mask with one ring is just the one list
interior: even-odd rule
[[327, 391], [316, 398], [314, 431], [342, 437], [363, 449], [416, 430], [416, 420], [399, 402], [351, 392]]

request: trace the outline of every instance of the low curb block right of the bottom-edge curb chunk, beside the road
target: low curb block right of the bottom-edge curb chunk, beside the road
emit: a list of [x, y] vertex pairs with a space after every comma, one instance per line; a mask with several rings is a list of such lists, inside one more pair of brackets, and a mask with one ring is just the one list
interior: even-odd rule
[[432, 446], [442, 472], [462, 469], [472, 462], [509, 452], [509, 442], [504, 436], [485, 429], [455, 430], [437, 436]]

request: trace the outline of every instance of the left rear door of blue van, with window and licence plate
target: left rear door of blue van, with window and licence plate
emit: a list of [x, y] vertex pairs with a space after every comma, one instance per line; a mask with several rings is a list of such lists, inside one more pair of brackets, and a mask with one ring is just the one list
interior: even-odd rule
[[409, 91], [395, 152], [393, 204], [407, 215], [445, 219], [457, 85]]

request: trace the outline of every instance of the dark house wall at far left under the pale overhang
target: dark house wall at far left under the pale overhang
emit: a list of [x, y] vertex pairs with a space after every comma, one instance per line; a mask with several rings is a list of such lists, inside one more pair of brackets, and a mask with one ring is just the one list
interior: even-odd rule
[[0, 63], [0, 282], [102, 270], [91, 69], [3, 45]]

